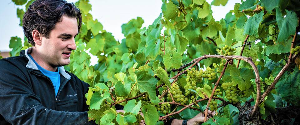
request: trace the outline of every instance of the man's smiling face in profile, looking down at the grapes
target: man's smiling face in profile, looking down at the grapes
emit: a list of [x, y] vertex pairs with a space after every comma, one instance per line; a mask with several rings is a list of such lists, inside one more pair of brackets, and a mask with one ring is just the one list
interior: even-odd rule
[[[74, 17], [63, 16], [62, 22], [57, 22], [47, 39], [42, 37], [39, 51], [44, 63], [52, 67], [64, 66], [70, 63], [71, 51], [76, 49], [75, 36], [78, 34], [78, 24]], [[47, 65], [46, 64], [46, 65]]]

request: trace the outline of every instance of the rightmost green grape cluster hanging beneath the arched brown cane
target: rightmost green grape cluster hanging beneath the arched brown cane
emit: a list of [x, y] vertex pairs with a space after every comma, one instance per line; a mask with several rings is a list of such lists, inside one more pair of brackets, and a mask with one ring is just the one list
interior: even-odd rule
[[238, 103], [237, 96], [239, 95], [241, 98], [245, 96], [246, 91], [237, 90], [236, 86], [230, 83], [223, 83], [221, 87], [225, 90], [226, 98], [229, 100], [230, 103]]

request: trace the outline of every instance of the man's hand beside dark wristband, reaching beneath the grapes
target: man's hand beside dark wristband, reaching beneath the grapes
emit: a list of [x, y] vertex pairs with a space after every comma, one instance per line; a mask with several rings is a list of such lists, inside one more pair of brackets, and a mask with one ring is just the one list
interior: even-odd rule
[[[211, 112], [210, 110], [207, 111], [207, 120], [209, 118], [211, 118], [212, 116], [214, 116], [216, 113], [215, 112]], [[202, 124], [204, 122], [204, 113], [199, 113], [197, 114], [194, 118], [190, 119], [187, 121], [187, 125], [199, 125]]]

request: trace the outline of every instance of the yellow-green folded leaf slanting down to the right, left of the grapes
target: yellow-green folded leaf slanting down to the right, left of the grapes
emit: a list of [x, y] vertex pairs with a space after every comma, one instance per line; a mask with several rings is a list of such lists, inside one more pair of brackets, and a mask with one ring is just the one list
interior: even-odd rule
[[160, 78], [163, 83], [165, 83], [169, 88], [171, 88], [171, 83], [169, 81], [168, 73], [160, 66], [159, 60], [153, 62], [154, 76]]

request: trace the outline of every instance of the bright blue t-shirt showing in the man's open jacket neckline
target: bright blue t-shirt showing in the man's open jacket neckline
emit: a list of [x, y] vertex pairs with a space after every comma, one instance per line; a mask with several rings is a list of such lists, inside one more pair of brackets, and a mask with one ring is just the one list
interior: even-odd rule
[[60, 86], [60, 75], [59, 75], [59, 69], [57, 72], [52, 72], [52, 71], [48, 71], [44, 68], [42, 68], [39, 64], [37, 64], [37, 62], [35, 62], [35, 60], [32, 58], [32, 56], [30, 54], [28, 54], [28, 56], [33, 60], [33, 62], [37, 65], [38, 70], [40, 70], [45, 76], [47, 76], [48, 78], [50, 78], [51, 82], [53, 83], [54, 86], [54, 91], [55, 91], [55, 97], [58, 93], [58, 89]]

